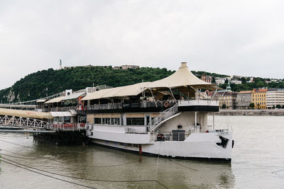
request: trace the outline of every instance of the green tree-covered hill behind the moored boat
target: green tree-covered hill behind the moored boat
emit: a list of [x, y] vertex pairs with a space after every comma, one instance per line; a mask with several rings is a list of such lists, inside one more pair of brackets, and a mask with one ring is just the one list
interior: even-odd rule
[[[163, 79], [174, 71], [168, 69], [141, 67], [138, 69], [113, 69], [109, 67], [69, 67], [66, 69], [48, 69], [28, 74], [23, 79], [16, 81], [13, 86], [0, 91], [0, 102], [19, 102], [31, 101], [45, 96], [51, 96], [60, 93], [66, 89], [73, 91], [80, 90], [88, 86], [125, 86], [136, 84], [143, 81], [155, 81]], [[192, 71], [198, 77], [202, 74], [212, 76], [213, 82], [215, 77], [226, 77], [226, 75], [209, 73], [205, 71]], [[283, 80], [280, 82], [271, 82], [270, 79], [255, 78], [253, 83], [231, 84], [232, 91], [252, 90], [253, 88], [284, 88]], [[226, 84], [220, 87], [226, 88]]]

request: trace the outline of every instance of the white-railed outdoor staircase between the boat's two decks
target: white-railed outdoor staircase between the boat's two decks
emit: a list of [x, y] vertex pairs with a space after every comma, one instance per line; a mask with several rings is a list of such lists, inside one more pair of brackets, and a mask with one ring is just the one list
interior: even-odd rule
[[149, 131], [155, 132], [160, 130], [163, 126], [165, 126], [165, 124], [167, 124], [170, 119], [175, 118], [180, 114], [181, 112], [178, 112], [178, 105], [174, 105], [173, 107], [168, 108], [149, 123]]

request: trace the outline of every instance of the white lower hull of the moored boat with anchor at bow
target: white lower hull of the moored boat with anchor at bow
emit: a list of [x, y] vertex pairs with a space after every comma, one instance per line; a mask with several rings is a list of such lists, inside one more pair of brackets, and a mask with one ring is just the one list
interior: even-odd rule
[[[221, 145], [220, 136], [228, 139], [226, 147]], [[231, 132], [192, 133], [185, 141], [156, 141], [148, 144], [131, 144], [94, 138], [90, 141], [94, 144], [146, 155], [231, 162]]]

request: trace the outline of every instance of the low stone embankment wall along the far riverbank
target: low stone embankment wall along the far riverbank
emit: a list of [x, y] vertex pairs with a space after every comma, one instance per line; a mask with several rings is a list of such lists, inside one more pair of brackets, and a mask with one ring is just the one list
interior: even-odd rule
[[215, 115], [274, 115], [284, 116], [283, 109], [274, 110], [220, 110]]

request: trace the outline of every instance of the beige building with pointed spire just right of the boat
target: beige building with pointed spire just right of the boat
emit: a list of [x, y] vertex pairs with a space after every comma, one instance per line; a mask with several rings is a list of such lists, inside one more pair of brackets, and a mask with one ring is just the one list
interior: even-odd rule
[[226, 86], [226, 90], [218, 91], [215, 99], [219, 101], [220, 108], [229, 108], [235, 109], [236, 108], [236, 95], [237, 92], [231, 91], [230, 81]]

